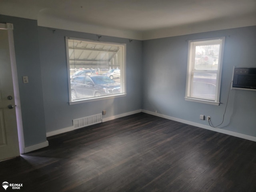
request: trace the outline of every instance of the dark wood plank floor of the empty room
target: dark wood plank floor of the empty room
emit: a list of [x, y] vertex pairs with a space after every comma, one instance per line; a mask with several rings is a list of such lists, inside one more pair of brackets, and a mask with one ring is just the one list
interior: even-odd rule
[[256, 142], [144, 113], [48, 141], [0, 162], [0, 182], [28, 192], [256, 191]]

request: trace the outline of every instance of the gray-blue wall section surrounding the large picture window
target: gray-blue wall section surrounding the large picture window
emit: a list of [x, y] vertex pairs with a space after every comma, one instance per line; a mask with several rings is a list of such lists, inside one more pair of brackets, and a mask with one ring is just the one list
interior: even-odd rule
[[72, 119], [99, 114], [104, 118], [142, 108], [142, 41], [102, 36], [101, 41], [126, 44], [126, 92], [124, 97], [68, 104], [68, 72], [65, 36], [98, 40], [96, 34], [38, 27], [44, 93], [46, 131], [72, 126]]

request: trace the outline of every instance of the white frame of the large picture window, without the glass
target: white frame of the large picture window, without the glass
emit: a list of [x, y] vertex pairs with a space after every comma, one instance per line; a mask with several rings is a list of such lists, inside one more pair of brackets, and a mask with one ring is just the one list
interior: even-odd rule
[[[106, 96], [99, 96], [99, 97], [92, 97], [92, 98], [84, 98], [79, 100], [72, 100], [71, 98], [71, 84], [70, 84], [70, 62], [69, 62], [69, 48], [68, 48], [68, 40], [81, 40], [86, 42], [92, 42], [97, 44], [106, 44], [106, 45], [113, 45], [113, 46], [122, 46], [122, 66], [120, 67], [120, 86], [122, 87], [122, 92], [119, 94], [110, 94]], [[113, 43], [113, 42], [99, 42], [99, 41], [93, 41], [88, 39], [81, 39], [81, 38], [73, 38], [73, 37], [66, 37], [66, 57], [67, 57], [67, 65], [68, 65], [68, 92], [69, 92], [69, 104], [80, 104], [84, 102], [91, 102], [91, 101], [97, 101], [97, 100], [105, 100], [105, 99], [113, 99], [117, 97], [123, 97], [126, 96], [126, 44], [120, 44], [120, 43]]]

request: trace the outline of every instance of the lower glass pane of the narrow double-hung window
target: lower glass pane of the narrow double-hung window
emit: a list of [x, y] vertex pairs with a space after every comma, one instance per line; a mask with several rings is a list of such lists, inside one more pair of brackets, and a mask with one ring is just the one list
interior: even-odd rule
[[191, 84], [191, 97], [215, 100], [217, 74], [194, 73]]

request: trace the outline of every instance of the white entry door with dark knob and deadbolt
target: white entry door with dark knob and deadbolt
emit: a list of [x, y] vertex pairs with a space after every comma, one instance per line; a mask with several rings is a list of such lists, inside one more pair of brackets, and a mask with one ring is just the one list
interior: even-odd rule
[[8, 30], [0, 26], [0, 160], [19, 155]]

